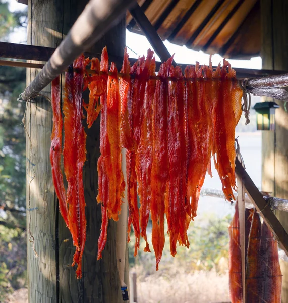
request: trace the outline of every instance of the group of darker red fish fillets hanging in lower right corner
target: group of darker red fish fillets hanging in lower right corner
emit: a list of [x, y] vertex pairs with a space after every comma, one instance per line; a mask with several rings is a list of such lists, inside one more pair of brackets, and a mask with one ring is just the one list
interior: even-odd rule
[[[229, 226], [229, 294], [232, 303], [243, 302], [238, 206]], [[255, 209], [245, 211], [245, 301], [281, 303], [282, 274], [278, 244]]]

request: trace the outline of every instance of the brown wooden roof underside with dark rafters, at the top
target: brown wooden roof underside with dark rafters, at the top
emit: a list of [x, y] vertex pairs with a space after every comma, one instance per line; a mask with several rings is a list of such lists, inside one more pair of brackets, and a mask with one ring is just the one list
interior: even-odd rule
[[[226, 58], [260, 55], [260, 0], [138, 0], [162, 40]], [[142, 34], [127, 14], [127, 28]]]

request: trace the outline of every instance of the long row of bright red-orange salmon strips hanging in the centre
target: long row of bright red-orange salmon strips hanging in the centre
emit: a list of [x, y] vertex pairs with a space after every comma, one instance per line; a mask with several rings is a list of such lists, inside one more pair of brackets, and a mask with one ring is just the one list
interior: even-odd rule
[[[81, 258], [86, 238], [85, 201], [82, 169], [86, 160], [86, 134], [100, 115], [100, 153], [98, 195], [102, 225], [98, 240], [100, 259], [107, 240], [108, 220], [118, 220], [125, 184], [128, 189], [128, 241], [133, 225], [135, 252], [140, 236], [147, 240], [149, 216], [152, 220], [152, 245], [156, 269], [164, 247], [164, 216], [168, 223], [170, 251], [176, 244], [189, 247], [187, 229], [197, 215], [198, 199], [206, 172], [214, 162], [227, 200], [233, 200], [235, 182], [235, 127], [241, 116], [242, 90], [236, 73], [224, 60], [209, 66], [187, 66], [184, 74], [163, 62], [156, 76], [153, 52], [130, 66], [125, 49], [123, 66], [108, 65], [107, 49], [101, 61], [91, 60], [93, 74], [85, 72], [89, 59], [80, 56], [65, 76], [64, 147], [59, 80], [52, 83], [53, 130], [51, 165], [60, 212], [68, 226], [76, 252], [77, 277], [81, 277]], [[77, 69], [77, 72], [73, 72]], [[57, 82], [58, 81], [58, 82]], [[82, 102], [82, 90], [89, 89], [89, 104]], [[83, 107], [82, 107], [83, 106]], [[83, 108], [85, 109], [83, 113]], [[96, 134], [97, 135], [97, 134]], [[127, 180], [121, 169], [122, 148], [126, 148]], [[63, 154], [67, 192], [61, 172]], [[140, 199], [138, 209], [137, 196]]]

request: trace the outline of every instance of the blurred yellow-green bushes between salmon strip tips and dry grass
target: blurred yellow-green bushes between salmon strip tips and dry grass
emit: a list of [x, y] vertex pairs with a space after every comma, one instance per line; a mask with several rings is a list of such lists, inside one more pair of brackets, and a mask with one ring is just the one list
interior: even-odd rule
[[[205, 221], [204, 221], [205, 220]], [[228, 260], [228, 224], [231, 221], [231, 216], [218, 218], [211, 215], [205, 216], [203, 219], [196, 220], [190, 223], [188, 230], [188, 238], [190, 247], [177, 247], [177, 254], [175, 258], [170, 255], [169, 237], [165, 236], [165, 246], [163, 255], [159, 264], [159, 272], [165, 274], [169, 272], [170, 268], [185, 269], [186, 272], [193, 272], [195, 270], [212, 270], [215, 269], [221, 273], [221, 268], [218, 264], [220, 260]], [[131, 235], [131, 242], [129, 243], [129, 265], [141, 265], [144, 276], [155, 273], [155, 255], [151, 243], [151, 233], [148, 232], [150, 238], [150, 249], [152, 253], [143, 251], [145, 246], [144, 241], [141, 241], [138, 255], [134, 258], [134, 237]]]

